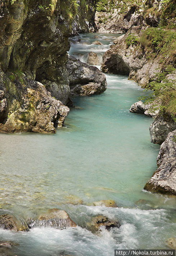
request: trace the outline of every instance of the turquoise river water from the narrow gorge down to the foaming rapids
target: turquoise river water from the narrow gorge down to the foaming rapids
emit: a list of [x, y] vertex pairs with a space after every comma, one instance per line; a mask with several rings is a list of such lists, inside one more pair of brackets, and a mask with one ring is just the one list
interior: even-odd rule
[[[94, 35], [81, 36], [89, 43]], [[79, 53], [78, 44], [69, 53]], [[109, 256], [114, 249], [164, 249], [176, 236], [175, 198], [143, 191], [159, 151], [150, 143], [152, 118], [129, 112], [144, 92], [125, 76], [107, 75], [107, 82], [104, 94], [73, 99], [76, 108], [57, 134], [0, 134], [0, 213], [27, 218], [60, 208], [79, 226], [102, 214], [117, 218], [120, 229], [0, 230], [0, 240], [14, 242], [14, 255]], [[91, 206], [101, 199], [118, 208]]]

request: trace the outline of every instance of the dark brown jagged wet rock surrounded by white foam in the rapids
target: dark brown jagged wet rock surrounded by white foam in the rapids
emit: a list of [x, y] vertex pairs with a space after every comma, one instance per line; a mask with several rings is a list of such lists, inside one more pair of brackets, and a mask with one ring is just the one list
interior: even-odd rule
[[87, 223], [87, 229], [95, 233], [99, 230], [101, 226], [104, 226], [105, 229], [109, 230], [111, 227], [120, 227], [118, 221], [110, 220], [109, 218], [99, 215], [92, 218], [92, 221]]

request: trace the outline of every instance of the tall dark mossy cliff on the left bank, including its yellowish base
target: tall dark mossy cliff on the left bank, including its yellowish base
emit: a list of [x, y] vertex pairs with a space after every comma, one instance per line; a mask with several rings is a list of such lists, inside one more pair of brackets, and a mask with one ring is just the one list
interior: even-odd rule
[[[94, 1], [0, 2], [0, 131], [55, 133], [69, 108], [68, 36], [88, 31]], [[36, 82], [37, 81], [37, 82]]]

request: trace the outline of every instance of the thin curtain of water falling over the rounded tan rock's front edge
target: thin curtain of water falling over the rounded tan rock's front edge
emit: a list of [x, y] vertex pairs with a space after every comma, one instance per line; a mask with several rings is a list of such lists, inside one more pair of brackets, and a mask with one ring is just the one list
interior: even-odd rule
[[48, 220], [31, 220], [28, 227], [54, 227], [55, 229], [67, 229], [67, 220], [64, 218], [51, 218]]

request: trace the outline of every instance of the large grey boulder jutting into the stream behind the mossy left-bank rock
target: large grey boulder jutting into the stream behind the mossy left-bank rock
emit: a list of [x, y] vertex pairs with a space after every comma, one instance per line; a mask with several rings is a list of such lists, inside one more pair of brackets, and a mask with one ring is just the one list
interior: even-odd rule
[[101, 94], [107, 88], [105, 75], [98, 68], [89, 66], [75, 57], [69, 56], [67, 62], [71, 95]]

